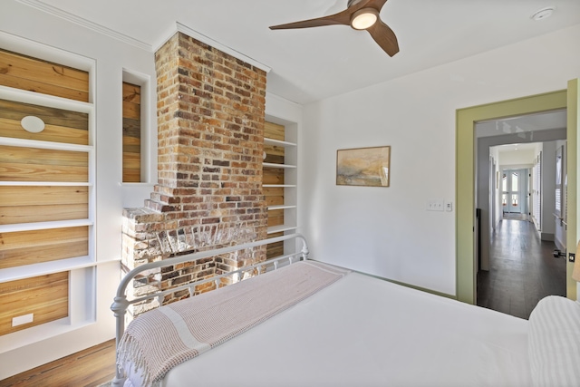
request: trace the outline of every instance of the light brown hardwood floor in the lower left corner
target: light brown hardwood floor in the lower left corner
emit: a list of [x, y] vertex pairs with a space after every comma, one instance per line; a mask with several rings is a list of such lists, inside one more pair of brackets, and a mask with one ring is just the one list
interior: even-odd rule
[[46, 363], [0, 381], [0, 387], [82, 387], [111, 382], [115, 376], [115, 341]]

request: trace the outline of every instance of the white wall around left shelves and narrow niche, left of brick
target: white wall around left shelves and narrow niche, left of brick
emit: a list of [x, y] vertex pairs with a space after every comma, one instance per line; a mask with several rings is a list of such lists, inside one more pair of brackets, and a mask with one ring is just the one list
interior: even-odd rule
[[[66, 52], [77, 53], [96, 62], [96, 259], [103, 262], [121, 258], [122, 208], [139, 203], [149, 196], [150, 185], [121, 184], [121, 79], [123, 69], [130, 69], [149, 78], [155, 91], [153, 53], [123, 44], [118, 40], [46, 15], [14, 1], [3, 1], [0, 11], [0, 32], [22, 37]], [[8, 35], [5, 35], [8, 36]], [[145, 103], [156, 106], [153, 92], [145, 95]], [[150, 182], [156, 179], [157, 126], [156, 112], [146, 117], [149, 125]], [[145, 193], [147, 192], [147, 193]], [[147, 196], [145, 196], [147, 195]], [[46, 336], [27, 345], [11, 343], [13, 350], [0, 348], [0, 380], [34, 366], [53, 361], [114, 337], [111, 300], [119, 283], [119, 261], [97, 266], [97, 321], [67, 334]], [[40, 334], [42, 336], [42, 334]], [[7, 340], [4, 337], [5, 340]]]

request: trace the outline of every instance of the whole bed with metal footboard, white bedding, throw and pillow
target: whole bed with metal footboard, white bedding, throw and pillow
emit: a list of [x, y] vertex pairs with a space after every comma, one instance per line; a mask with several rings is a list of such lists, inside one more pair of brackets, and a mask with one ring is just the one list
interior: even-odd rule
[[[125, 331], [125, 310], [143, 298], [125, 296], [133, 276], [291, 239], [302, 242], [296, 254], [224, 275], [259, 276], [142, 314]], [[297, 234], [139, 266], [111, 309], [116, 386], [580, 385], [580, 304], [546, 297], [527, 321], [311, 260]]]

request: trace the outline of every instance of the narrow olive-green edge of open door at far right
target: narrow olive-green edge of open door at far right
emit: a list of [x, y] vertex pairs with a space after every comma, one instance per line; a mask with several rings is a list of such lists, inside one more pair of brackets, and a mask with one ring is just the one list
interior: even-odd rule
[[[580, 198], [578, 194], [578, 153], [580, 152], [580, 144], [578, 142], [578, 127], [580, 126], [578, 117], [578, 103], [580, 103], [580, 91], [578, 89], [578, 82], [575, 79], [568, 82], [567, 89], [567, 179], [566, 184], [566, 297], [575, 300], [577, 295], [576, 282], [572, 279], [572, 271], [574, 270], [574, 262], [570, 261], [570, 254], [575, 254], [576, 244], [580, 240], [576, 220], [578, 219], [578, 203]], [[574, 198], [574, 199], [571, 199]], [[578, 257], [577, 259], [580, 259]]]

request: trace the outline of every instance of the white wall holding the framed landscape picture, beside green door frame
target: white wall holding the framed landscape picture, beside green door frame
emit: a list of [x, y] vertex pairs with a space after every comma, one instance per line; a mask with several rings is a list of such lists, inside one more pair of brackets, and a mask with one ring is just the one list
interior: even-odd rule
[[[565, 89], [579, 41], [576, 25], [307, 105], [299, 196], [312, 256], [455, 295], [455, 212], [425, 203], [455, 197], [456, 110]], [[380, 145], [390, 188], [335, 185], [336, 150]]]

